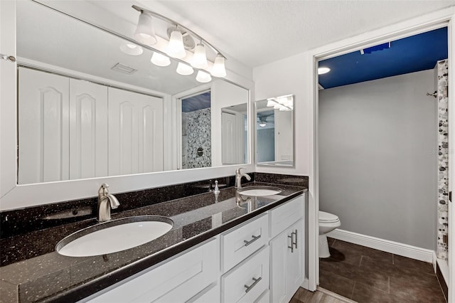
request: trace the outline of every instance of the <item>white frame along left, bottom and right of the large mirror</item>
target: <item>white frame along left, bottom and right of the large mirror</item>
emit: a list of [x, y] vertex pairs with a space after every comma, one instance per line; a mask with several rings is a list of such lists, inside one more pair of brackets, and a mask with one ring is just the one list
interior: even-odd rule
[[[84, 11], [80, 7], [76, 9], [80, 12]], [[1, 53], [16, 57], [16, 1], [0, 1], [0, 14]], [[109, 184], [109, 190], [112, 193], [122, 193], [232, 176], [235, 169], [240, 167], [247, 168], [249, 172], [255, 170], [255, 165], [252, 164], [251, 148], [254, 129], [250, 115], [248, 164], [18, 185], [16, 70], [16, 63], [0, 60], [0, 211], [92, 198], [97, 196], [97, 189], [102, 183]], [[254, 100], [255, 85], [252, 80], [233, 73], [231, 70], [227, 70], [227, 72], [225, 80], [248, 90], [248, 109], [250, 113], [254, 112], [251, 100]]]

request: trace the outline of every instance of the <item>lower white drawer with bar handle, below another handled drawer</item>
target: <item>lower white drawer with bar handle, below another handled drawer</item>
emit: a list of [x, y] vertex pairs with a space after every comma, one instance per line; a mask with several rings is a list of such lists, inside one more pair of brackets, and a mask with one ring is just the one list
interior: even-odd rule
[[[221, 302], [256, 302], [269, 289], [269, 248], [262, 248], [221, 277]], [[263, 298], [262, 298], [263, 299]]]

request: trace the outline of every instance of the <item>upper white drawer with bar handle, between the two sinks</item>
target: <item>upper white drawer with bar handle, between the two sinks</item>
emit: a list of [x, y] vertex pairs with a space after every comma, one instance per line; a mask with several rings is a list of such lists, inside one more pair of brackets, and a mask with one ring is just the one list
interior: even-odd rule
[[264, 214], [221, 235], [223, 272], [230, 270], [267, 243], [268, 218], [267, 214]]

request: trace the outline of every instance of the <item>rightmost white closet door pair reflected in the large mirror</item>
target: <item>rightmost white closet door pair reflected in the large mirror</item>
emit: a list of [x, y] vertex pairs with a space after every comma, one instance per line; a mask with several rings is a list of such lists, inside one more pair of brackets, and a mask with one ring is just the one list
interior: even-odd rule
[[163, 170], [163, 99], [109, 87], [109, 176]]

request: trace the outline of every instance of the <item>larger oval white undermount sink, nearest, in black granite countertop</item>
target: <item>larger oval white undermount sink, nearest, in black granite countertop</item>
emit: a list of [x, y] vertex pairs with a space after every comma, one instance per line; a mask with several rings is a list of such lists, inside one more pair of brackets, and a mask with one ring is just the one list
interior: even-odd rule
[[89, 257], [127, 250], [167, 233], [173, 220], [163, 216], [134, 216], [109, 220], [78, 230], [55, 246], [60, 255]]

